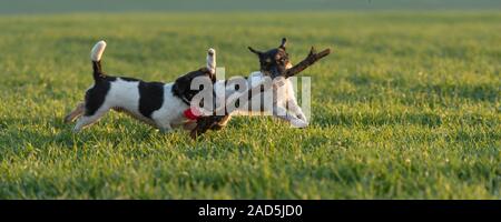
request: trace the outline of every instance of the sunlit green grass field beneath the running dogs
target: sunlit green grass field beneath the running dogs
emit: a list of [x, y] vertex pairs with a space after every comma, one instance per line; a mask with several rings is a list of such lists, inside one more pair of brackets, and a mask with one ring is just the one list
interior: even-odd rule
[[[0, 17], [0, 199], [500, 199], [500, 12], [91, 13]], [[247, 46], [335, 53], [312, 119], [234, 119], [199, 141], [110, 112], [63, 115], [109, 73], [173, 81], [209, 47], [232, 75]]]

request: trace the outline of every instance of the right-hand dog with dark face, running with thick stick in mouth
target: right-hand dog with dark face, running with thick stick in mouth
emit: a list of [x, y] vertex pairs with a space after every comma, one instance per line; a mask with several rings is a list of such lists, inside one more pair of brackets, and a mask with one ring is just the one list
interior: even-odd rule
[[[261, 72], [253, 72], [250, 79], [248, 79], [248, 83], [246, 87], [248, 94], [248, 99], [261, 95], [261, 109], [238, 109], [236, 111], [232, 110], [223, 110], [224, 108], [219, 108], [223, 111], [223, 114], [217, 114], [215, 112], [213, 115], [200, 117], [197, 120], [196, 127], [191, 130], [190, 137], [197, 138], [198, 135], [205, 133], [207, 130], [219, 130], [226, 125], [233, 114], [242, 114], [249, 112], [263, 112], [263, 94], [258, 94], [261, 92], [266, 92], [273, 89], [273, 115], [285, 121], [291, 122], [293, 125], [302, 128], [307, 125], [307, 120], [297, 105], [297, 101], [294, 97], [294, 89], [292, 87], [292, 82], [288, 80], [289, 77], [294, 77], [295, 74], [301, 73], [303, 70], [314, 64], [316, 61], [325, 58], [331, 53], [331, 49], [325, 49], [321, 52], [316, 52], [316, 50], [312, 47], [308, 56], [302, 60], [299, 63], [294, 67], [288, 61], [288, 53], [285, 52], [285, 43], [286, 39], [282, 40], [282, 44], [277, 49], [268, 50], [267, 52], [261, 52], [254, 50], [253, 48], [248, 48], [252, 52], [256, 53], [259, 58], [261, 63]], [[261, 84], [261, 82], [265, 81], [265, 78], [273, 78], [273, 83], [269, 84]], [[254, 84], [257, 82], [257, 84]], [[219, 81], [216, 82], [219, 83]], [[226, 82], [225, 82], [226, 84]], [[229, 88], [232, 88], [230, 85]], [[284, 89], [285, 88], [285, 89]], [[261, 90], [259, 90], [261, 89]], [[281, 90], [282, 89], [282, 90]], [[218, 91], [218, 90], [216, 90]], [[254, 93], [256, 91], [257, 93]], [[245, 100], [245, 97], [244, 97]], [[229, 102], [234, 102], [235, 99], [229, 100]], [[252, 107], [250, 107], [252, 108]], [[282, 111], [282, 112], [279, 112]]]

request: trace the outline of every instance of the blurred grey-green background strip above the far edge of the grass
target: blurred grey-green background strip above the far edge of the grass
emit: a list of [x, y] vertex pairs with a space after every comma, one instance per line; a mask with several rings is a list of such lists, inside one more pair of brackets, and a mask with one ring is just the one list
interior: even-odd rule
[[0, 13], [122, 11], [499, 10], [499, 0], [1, 0]]

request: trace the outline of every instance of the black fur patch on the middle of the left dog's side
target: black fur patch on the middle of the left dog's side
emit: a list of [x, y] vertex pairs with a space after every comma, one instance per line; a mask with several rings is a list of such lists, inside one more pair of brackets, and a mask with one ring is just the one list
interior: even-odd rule
[[139, 81], [139, 112], [151, 119], [151, 113], [164, 104], [164, 83]]

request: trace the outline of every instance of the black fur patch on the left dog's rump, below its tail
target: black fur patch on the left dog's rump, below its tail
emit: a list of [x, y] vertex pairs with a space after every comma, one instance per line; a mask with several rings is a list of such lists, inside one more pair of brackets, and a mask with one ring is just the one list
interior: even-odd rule
[[106, 94], [111, 83], [109, 81], [96, 81], [95, 85], [86, 92], [86, 113], [85, 115], [94, 115], [102, 105]]

